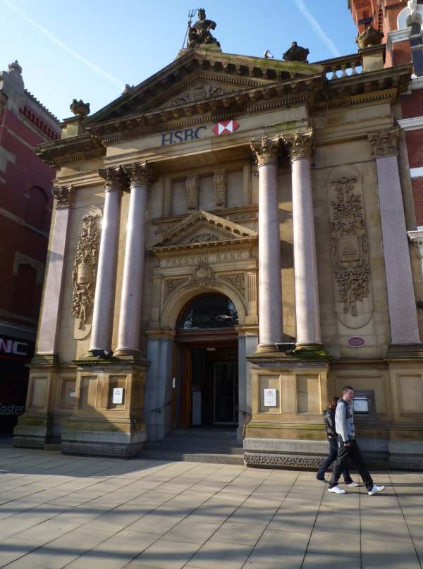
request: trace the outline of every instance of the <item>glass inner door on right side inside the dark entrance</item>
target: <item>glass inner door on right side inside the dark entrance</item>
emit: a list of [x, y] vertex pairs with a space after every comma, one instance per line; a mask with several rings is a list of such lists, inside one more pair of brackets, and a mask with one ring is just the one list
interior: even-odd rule
[[238, 424], [238, 363], [214, 364], [214, 424]]

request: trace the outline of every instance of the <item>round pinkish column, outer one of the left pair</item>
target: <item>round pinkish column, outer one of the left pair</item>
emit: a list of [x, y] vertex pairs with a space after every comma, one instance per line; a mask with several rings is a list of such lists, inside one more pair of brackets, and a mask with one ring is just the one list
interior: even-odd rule
[[127, 178], [121, 167], [100, 169], [99, 175], [106, 183], [90, 351], [111, 351], [121, 200]]

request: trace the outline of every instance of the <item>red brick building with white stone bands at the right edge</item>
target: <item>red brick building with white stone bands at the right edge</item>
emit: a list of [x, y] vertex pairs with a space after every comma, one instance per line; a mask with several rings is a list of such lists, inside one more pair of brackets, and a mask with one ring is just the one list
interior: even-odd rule
[[[422, 247], [423, 254], [423, 0], [349, 0], [348, 6], [359, 33], [369, 25], [384, 33], [386, 67], [413, 64], [410, 87], [401, 95], [396, 115], [406, 147], [402, 159], [407, 158], [408, 162], [403, 173], [410, 172], [414, 201], [414, 208], [407, 211], [404, 196], [407, 229], [417, 228], [418, 232], [412, 231], [410, 238]], [[405, 193], [408, 183], [404, 176]]]

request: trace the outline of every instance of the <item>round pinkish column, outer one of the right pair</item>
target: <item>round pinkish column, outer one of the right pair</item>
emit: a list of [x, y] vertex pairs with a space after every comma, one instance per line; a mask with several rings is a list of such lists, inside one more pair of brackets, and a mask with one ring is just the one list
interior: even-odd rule
[[312, 130], [283, 136], [290, 153], [293, 186], [293, 233], [295, 314], [297, 346], [302, 350], [321, 347], [319, 285], [310, 157]]

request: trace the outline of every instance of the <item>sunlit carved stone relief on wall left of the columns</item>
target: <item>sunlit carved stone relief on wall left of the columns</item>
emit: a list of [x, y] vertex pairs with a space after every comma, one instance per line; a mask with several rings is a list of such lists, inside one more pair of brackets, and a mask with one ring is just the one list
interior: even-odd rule
[[99, 214], [82, 218], [82, 228], [73, 262], [73, 316], [79, 320], [78, 329], [83, 329], [92, 313], [94, 290], [99, 257]]

